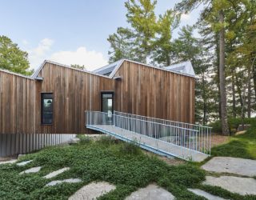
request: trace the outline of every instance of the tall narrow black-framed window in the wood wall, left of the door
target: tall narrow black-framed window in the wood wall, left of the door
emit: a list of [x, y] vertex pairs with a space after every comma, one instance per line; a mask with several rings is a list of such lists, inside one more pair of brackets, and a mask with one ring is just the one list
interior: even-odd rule
[[41, 122], [42, 124], [53, 123], [53, 94], [42, 93], [41, 94]]

